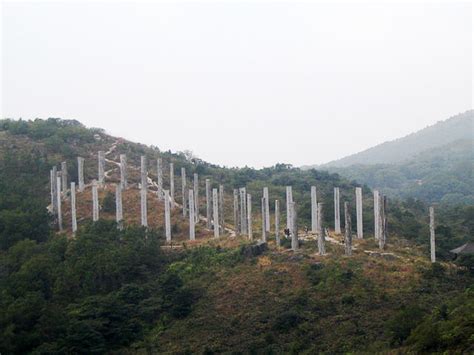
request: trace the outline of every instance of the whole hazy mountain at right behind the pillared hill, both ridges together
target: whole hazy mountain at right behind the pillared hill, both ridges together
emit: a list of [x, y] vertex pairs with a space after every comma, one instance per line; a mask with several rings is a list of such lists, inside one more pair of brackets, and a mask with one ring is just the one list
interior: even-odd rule
[[474, 204], [474, 111], [319, 166], [389, 196]]

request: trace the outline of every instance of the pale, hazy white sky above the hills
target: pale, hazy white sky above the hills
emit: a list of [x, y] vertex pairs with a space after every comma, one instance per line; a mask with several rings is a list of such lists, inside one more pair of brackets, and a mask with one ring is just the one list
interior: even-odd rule
[[472, 108], [469, 3], [4, 2], [1, 115], [227, 166], [324, 163]]

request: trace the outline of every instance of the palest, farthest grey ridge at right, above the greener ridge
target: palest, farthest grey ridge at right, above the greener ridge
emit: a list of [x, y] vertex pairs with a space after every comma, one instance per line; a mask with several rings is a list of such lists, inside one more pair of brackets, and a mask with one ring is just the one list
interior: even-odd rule
[[347, 167], [354, 164], [394, 164], [415, 157], [424, 151], [458, 140], [472, 140], [474, 111], [469, 110], [445, 121], [440, 121], [403, 138], [385, 142], [363, 152], [319, 166]]

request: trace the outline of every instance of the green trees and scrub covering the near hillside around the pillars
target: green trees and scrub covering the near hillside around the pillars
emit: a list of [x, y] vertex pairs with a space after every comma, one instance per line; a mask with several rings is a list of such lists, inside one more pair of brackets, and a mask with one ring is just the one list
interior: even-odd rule
[[[83, 223], [68, 239], [54, 232], [45, 210], [49, 169], [114, 140], [57, 119], [4, 120], [0, 129], [2, 353], [473, 351], [473, 276], [469, 268], [426, 262], [427, 205], [420, 200], [389, 204], [391, 238], [409, 241], [411, 251], [396, 250], [403, 260], [365, 255], [363, 248], [374, 247], [370, 238], [351, 259], [328, 245], [330, 257], [322, 262], [308, 256], [312, 244], [297, 257], [274, 249], [245, 257], [243, 241], [164, 253], [162, 230], [120, 232], [106, 220]], [[157, 153], [129, 142], [118, 149], [132, 162]], [[327, 206], [333, 186], [345, 199], [356, 186], [284, 164], [223, 169], [184, 153], [161, 154], [176, 169], [247, 185], [255, 196], [270, 186], [270, 197], [281, 198], [284, 186], [293, 185], [308, 225], [304, 192], [312, 184]], [[74, 163], [69, 169], [74, 178]], [[370, 193], [364, 187], [368, 216]], [[474, 235], [474, 207], [439, 212], [439, 256], [448, 260], [450, 248]], [[373, 221], [365, 222], [370, 233]], [[468, 258], [456, 262], [472, 267]]]

